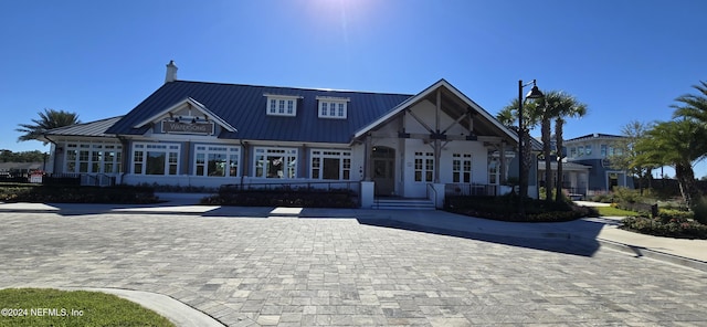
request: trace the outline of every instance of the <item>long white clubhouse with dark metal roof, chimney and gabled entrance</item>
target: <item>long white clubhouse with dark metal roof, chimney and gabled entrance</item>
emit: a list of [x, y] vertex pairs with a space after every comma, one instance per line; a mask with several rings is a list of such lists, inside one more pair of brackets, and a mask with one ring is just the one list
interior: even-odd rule
[[54, 172], [128, 184], [350, 188], [362, 207], [374, 197], [441, 207], [447, 193], [500, 194], [518, 170], [515, 131], [445, 80], [418, 94], [257, 86], [180, 81], [170, 62], [165, 84], [124, 116], [45, 139]]

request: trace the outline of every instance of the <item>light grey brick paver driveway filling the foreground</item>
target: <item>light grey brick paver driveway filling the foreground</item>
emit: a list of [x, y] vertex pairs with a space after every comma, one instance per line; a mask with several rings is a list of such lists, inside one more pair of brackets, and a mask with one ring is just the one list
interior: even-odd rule
[[156, 292], [229, 326], [707, 324], [704, 272], [532, 247], [355, 219], [0, 213], [0, 287]]

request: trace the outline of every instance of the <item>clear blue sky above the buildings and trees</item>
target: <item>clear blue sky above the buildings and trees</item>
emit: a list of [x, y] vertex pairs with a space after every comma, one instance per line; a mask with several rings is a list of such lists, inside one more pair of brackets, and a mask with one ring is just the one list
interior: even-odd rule
[[[0, 149], [44, 108], [126, 114], [178, 78], [415, 94], [445, 78], [492, 114], [518, 80], [589, 106], [567, 138], [671, 119], [707, 80], [700, 0], [0, 2]], [[696, 176], [707, 175], [697, 165]]]

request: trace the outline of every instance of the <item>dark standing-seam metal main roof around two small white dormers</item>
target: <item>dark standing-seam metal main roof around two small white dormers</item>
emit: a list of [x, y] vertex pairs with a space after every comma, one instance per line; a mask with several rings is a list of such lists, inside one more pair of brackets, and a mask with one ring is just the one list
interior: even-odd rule
[[[295, 117], [266, 115], [270, 95], [298, 96]], [[317, 97], [348, 98], [347, 118], [319, 118]], [[219, 138], [347, 144], [354, 133], [374, 122], [412, 95], [296, 87], [175, 81], [163, 84], [109, 127], [107, 134], [143, 135], [150, 126], [134, 128], [184, 98], [203, 104], [238, 131]]]

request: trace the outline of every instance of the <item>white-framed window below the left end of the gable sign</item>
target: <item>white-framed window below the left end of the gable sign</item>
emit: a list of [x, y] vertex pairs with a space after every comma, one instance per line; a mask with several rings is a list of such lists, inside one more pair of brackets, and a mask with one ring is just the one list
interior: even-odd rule
[[133, 145], [133, 173], [177, 175], [179, 171], [179, 145]]

